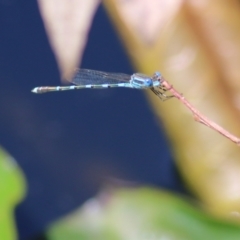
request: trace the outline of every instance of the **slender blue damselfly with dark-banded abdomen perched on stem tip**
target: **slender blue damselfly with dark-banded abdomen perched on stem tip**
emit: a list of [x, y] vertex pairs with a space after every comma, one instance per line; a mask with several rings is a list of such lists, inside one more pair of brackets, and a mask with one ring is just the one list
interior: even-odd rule
[[162, 76], [159, 72], [155, 72], [152, 77], [149, 77], [142, 73], [134, 73], [133, 75], [128, 75], [124, 73], [108, 73], [90, 69], [77, 69], [74, 77], [69, 80], [69, 82], [74, 85], [36, 87], [32, 90], [32, 92], [46, 93], [83, 88], [126, 87], [136, 89], [150, 89], [161, 100], [166, 100], [172, 96], [165, 95], [167, 89], [162, 86], [162, 81]]

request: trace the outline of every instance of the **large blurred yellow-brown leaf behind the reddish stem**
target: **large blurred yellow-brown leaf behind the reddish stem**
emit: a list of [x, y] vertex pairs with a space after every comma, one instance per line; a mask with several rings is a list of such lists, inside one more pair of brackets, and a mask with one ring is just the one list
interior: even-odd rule
[[[160, 70], [204, 115], [240, 136], [239, 1], [106, 0], [105, 6], [139, 72]], [[209, 211], [239, 220], [240, 148], [194, 122], [176, 99], [162, 103], [150, 92], [149, 99], [187, 185]]]

